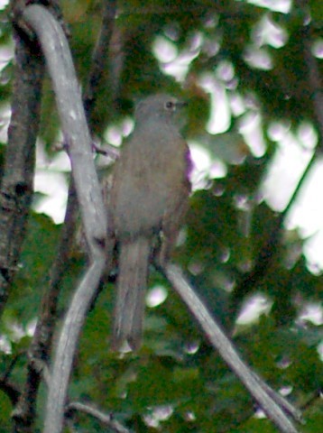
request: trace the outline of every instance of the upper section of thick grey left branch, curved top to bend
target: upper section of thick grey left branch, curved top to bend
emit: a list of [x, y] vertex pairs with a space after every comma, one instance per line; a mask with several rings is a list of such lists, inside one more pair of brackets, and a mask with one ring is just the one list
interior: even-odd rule
[[69, 44], [60, 24], [42, 6], [27, 7], [23, 18], [37, 33], [51, 75], [64, 140], [69, 149], [85, 235], [93, 259], [101, 255], [102, 245], [105, 244], [106, 211], [102, 204], [90, 135]]

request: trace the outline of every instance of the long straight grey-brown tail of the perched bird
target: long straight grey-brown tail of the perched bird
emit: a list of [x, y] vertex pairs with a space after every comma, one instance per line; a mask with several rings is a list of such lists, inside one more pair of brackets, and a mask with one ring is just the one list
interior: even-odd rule
[[111, 341], [113, 350], [119, 350], [125, 342], [133, 350], [141, 345], [150, 250], [149, 238], [139, 237], [134, 241], [120, 244]]

